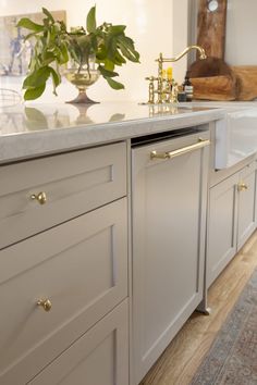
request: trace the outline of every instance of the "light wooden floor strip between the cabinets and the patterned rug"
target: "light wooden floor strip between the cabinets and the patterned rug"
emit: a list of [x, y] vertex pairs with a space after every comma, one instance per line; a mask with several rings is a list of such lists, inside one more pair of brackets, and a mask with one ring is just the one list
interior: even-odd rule
[[257, 266], [257, 232], [208, 290], [210, 315], [194, 313], [140, 385], [187, 385]]

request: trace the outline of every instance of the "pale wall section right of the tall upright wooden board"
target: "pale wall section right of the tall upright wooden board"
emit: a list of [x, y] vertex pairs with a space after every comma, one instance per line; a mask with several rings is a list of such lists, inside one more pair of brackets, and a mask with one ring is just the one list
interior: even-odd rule
[[225, 61], [257, 65], [257, 1], [228, 0]]

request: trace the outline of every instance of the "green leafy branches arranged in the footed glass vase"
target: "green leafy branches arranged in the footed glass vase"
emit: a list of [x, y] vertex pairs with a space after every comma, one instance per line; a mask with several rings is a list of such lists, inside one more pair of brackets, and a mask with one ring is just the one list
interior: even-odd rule
[[86, 17], [86, 28], [66, 29], [64, 22], [56, 21], [52, 14], [42, 8], [45, 15], [42, 24], [36, 24], [27, 17], [19, 21], [17, 27], [29, 30], [25, 39], [34, 39], [35, 46], [28, 65], [28, 74], [23, 83], [24, 99], [39, 98], [50, 77], [53, 94], [61, 84], [60, 67], [73, 60], [77, 72], [86, 66], [89, 73], [89, 58], [94, 55], [98, 71], [114, 89], [124, 88], [123, 84], [113, 79], [119, 76], [115, 66], [126, 63], [126, 60], [138, 63], [139, 53], [134, 41], [125, 35], [125, 25], [96, 24], [96, 7], [93, 7]]

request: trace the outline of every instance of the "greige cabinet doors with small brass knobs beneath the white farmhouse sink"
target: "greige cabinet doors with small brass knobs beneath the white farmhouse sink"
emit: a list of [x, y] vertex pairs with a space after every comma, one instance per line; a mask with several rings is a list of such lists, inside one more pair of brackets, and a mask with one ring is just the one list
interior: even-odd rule
[[217, 278], [256, 228], [256, 162], [210, 188], [207, 286]]

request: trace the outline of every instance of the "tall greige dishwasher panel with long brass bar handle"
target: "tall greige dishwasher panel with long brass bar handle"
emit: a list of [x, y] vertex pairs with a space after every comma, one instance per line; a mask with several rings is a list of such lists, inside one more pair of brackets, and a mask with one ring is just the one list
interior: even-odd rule
[[204, 296], [208, 149], [208, 133], [133, 149], [133, 384]]

